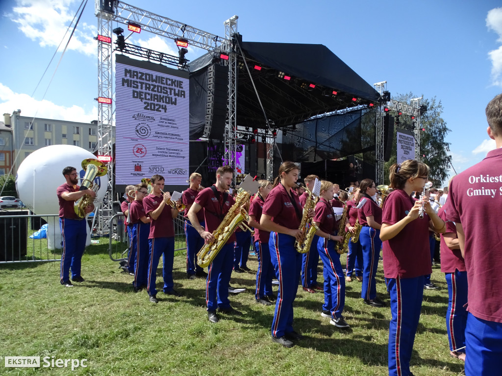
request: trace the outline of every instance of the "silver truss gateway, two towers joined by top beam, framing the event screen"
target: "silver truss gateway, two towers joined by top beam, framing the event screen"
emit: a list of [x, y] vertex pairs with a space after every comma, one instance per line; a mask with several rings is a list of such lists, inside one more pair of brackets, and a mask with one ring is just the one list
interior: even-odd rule
[[[207, 33], [186, 24], [159, 16], [116, 0], [95, 0], [94, 14], [98, 19], [98, 34], [113, 38], [112, 22], [128, 25], [132, 22], [142, 30], [164, 38], [188, 40], [189, 46], [208, 52], [229, 53], [228, 73], [228, 115], [225, 131], [225, 159], [235, 167], [236, 157], [236, 98], [237, 98], [237, 59], [232, 48], [232, 36], [237, 33], [237, 16], [224, 22], [225, 38]], [[113, 98], [113, 44], [98, 41], [98, 96]], [[114, 141], [113, 125], [114, 102], [98, 103], [98, 152], [100, 155], [112, 155]], [[108, 165], [108, 188], [105, 200], [98, 209], [99, 233], [108, 232], [108, 222], [113, 215], [113, 160]]]

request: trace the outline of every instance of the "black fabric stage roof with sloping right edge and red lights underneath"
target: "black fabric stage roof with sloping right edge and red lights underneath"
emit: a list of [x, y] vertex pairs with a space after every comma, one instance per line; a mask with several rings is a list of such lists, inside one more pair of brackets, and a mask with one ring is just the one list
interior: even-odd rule
[[[326, 46], [262, 42], [242, 42], [241, 46], [266, 116], [276, 128], [312, 116], [376, 103], [380, 99], [379, 92]], [[206, 54], [190, 62], [190, 72], [206, 69], [212, 63], [212, 56]], [[242, 63], [239, 54], [237, 124], [263, 128], [264, 114], [253, 82]], [[255, 69], [255, 65], [262, 69]], [[284, 72], [291, 80], [279, 77], [279, 72]], [[336, 96], [332, 95], [333, 91], [337, 92]], [[358, 99], [358, 103], [352, 98]], [[191, 127], [195, 125], [192, 120]]]

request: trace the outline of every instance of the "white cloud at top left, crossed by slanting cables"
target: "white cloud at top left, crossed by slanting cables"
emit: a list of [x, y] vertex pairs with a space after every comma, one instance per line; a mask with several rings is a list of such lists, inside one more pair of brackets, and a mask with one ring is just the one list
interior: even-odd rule
[[[75, 0], [18, 0], [18, 6], [13, 8], [14, 14], [11, 18], [19, 25], [18, 28], [23, 34], [33, 41], [38, 41], [40, 46], [57, 47], [75, 16], [77, 4], [80, 2]], [[92, 5], [93, 2], [88, 2], [86, 8]], [[60, 51], [66, 46], [73, 25], [66, 34]], [[68, 50], [89, 56], [96, 55], [96, 41], [92, 39], [95, 35], [97, 28], [83, 23], [80, 19]]]

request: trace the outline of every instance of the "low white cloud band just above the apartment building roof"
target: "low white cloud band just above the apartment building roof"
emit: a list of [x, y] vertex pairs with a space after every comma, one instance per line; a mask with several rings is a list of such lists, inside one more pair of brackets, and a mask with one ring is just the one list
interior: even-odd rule
[[82, 107], [59, 106], [48, 100], [39, 101], [28, 94], [15, 93], [7, 86], [0, 83], [0, 114], [9, 113], [21, 109], [23, 116], [36, 116], [39, 118], [90, 122], [97, 118], [97, 107], [86, 112]]

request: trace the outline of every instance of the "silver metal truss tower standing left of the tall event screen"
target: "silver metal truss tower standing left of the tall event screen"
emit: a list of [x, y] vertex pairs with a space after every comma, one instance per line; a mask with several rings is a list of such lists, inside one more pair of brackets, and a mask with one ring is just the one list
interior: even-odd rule
[[[96, 0], [94, 14], [97, 16], [98, 20], [98, 34], [112, 38], [112, 21], [113, 14], [105, 12], [99, 5], [100, 0]], [[112, 73], [112, 44], [111, 43], [101, 43], [98, 41], [97, 53], [98, 53], [98, 97], [112, 98], [113, 97], [113, 73]], [[97, 104], [98, 113], [98, 155], [112, 156], [112, 143], [114, 138], [114, 132], [112, 127], [112, 117], [113, 117], [113, 101], [111, 104], [99, 103]], [[108, 164], [108, 186], [106, 189], [106, 195], [104, 200], [99, 204], [97, 209], [97, 232], [100, 235], [104, 235], [108, 232], [108, 222], [113, 215], [113, 166], [114, 160]]]

